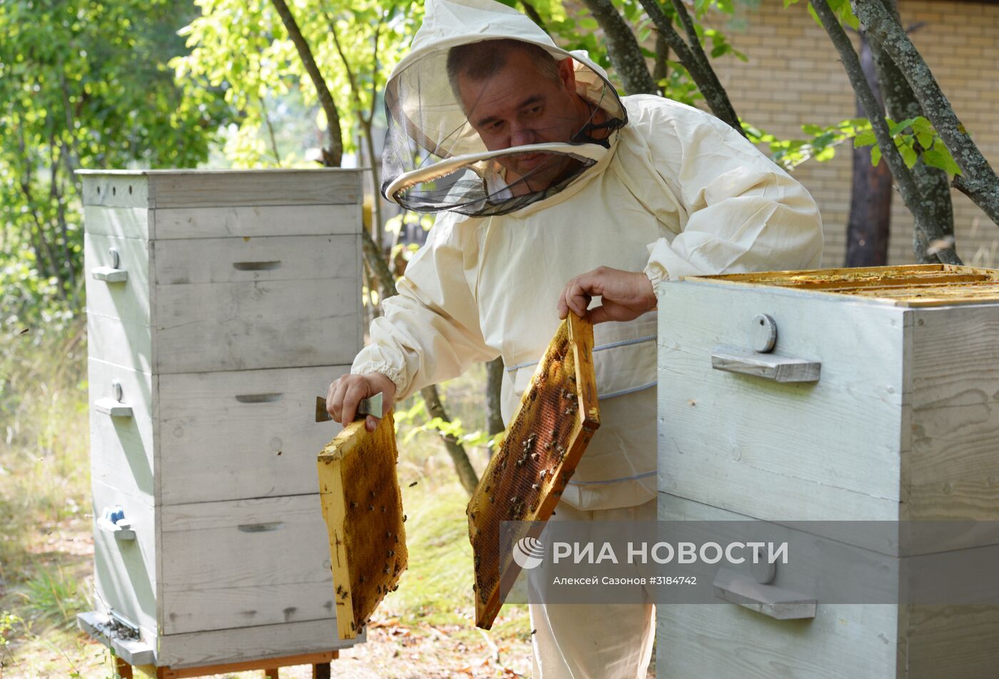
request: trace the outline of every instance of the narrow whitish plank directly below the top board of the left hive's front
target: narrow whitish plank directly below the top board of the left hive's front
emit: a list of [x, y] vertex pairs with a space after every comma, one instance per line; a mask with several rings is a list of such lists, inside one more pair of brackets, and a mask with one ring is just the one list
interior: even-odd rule
[[359, 234], [361, 206], [230, 206], [225, 208], [159, 208], [156, 238], [252, 238], [262, 236], [327, 236]]

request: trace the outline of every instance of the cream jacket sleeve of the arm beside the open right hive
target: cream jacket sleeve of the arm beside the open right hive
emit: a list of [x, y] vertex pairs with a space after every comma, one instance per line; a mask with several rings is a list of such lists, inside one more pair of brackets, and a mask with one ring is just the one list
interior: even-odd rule
[[654, 130], [651, 163], [679, 203], [680, 233], [649, 245], [645, 274], [653, 286], [680, 276], [819, 266], [818, 207], [750, 142], [675, 103], [654, 107], [642, 122]]

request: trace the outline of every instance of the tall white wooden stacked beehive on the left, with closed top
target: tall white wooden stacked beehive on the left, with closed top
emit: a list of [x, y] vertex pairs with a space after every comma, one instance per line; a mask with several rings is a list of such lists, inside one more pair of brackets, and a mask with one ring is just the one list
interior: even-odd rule
[[345, 645], [312, 420], [363, 342], [360, 173], [82, 174], [95, 614], [136, 664]]

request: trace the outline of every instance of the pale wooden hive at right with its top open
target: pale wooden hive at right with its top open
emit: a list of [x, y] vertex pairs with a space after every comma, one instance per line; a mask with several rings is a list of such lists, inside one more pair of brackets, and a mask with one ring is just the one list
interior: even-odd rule
[[[661, 287], [659, 310], [661, 520], [999, 520], [999, 272], [689, 278]], [[969, 533], [941, 549], [987, 544]], [[809, 581], [794, 568], [771, 584]], [[977, 679], [999, 667], [994, 607], [819, 600], [813, 619], [734, 604], [657, 617], [663, 677]]]

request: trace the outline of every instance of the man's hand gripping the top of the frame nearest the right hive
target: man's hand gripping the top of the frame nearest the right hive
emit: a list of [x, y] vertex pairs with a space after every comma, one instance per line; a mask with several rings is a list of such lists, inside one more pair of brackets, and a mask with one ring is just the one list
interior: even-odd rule
[[[601, 306], [587, 312], [589, 301], [597, 295]], [[600, 267], [565, 284], [558, 296], [558, 318], [564, 319], [571, 311], [593, 324], [631, 321], [655, 309], [655, 304], [655, 292], [647, 276]]]

